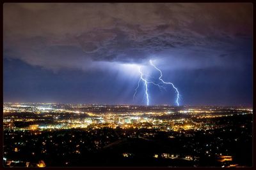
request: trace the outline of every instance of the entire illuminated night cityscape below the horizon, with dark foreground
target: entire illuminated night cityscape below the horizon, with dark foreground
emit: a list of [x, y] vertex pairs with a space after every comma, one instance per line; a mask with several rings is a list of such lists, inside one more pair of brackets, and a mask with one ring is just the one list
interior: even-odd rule
[[4, 103], [4, 165], [252, 166], [252, 113], [223, 106]]

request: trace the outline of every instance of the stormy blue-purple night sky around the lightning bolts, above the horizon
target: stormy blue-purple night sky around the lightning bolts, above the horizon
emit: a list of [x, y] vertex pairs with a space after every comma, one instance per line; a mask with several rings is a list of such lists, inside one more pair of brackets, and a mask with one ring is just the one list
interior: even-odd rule
[[4, 3], [4, 102], [252, 106], [252, 7]]

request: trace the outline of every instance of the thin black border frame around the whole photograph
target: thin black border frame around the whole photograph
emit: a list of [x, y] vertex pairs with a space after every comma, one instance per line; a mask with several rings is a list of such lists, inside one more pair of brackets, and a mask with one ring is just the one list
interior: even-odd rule
[[[1, 34], [1, 39], [3, 39], [3, 7], [4, 7], [4, 3], [252, 3], [253, 5], [253, 66], [255, 66], [255, 53], [254, 53], [254, 48], [256, 48], [255, 44], [254, 44], [254, 40], [255, 40], [255, 2], [253, 0], [224, 0], [224, 1], [220, 1], [220, 0], [140, 0], [140, 1], [134, 1], [134, 0], [130, 0], [130, 1], [124, 1], [124, 0], [119, 0], [119, 1], [100, 1], [100, 0], [88, 0], [88, 1], [84, 1], [84, 0], [61, 0], [61, 1], [56, 1], [56, 0], [38, 0], [38, 1], [33, 1], [33, 0], [24, 0], [24, 1], [17, 1], [17, 0], [3, 0], [1, 1], [1, 28], [2, 28], [2, 34]], [[1, 55], [3, 57], [3, 41], [1, 41], [2, 45], [0, 47], [1, 49]], [[3, 60], [0, 61], [1, 62], [1, 81], [3, 82]], [[254, 80], [255, 80], [255, 67], [253, 67], [253, 84]], [[3, 83], [1, 83], [2, 86], [2, 90], [1, 90], [1, 96], [3, 96]], [[255, 90], [254, 90], [254, 86], [253, 86], [253, 112], [255, 110], [255, 101], [254, 101], [254, 96], [255, 96]], [[3, 104], [3, 97], [1, 98], [1, 103]], [[3, 106], [3, 105], [2, 105]], [[2, 113], [0, 114], [0, 119], [1, 121], [3, 121], [3, 109], [2, 109]], [[236, 167], [236, 169], [254, 169], [255, 165], [256, 165], [256, 152], [255, 152], [255, 141], [256, 141], [256, 135], [255, 135], [255, 131], [254, 131], [254, 127], [255, 127], [255, 115], [253, 113], [253, 166], [252, 167]], [[1, 122], [1, 127], [0, 127], [0, 131], [1, 131], [1, 138], [3, 138], [3, 122]], [[3, 139], [0, 140], [0, 146], [3, 147]], [[1, 149], [0, 149], [1, 150]], [[3, 150], [1, 152], [1, 156], [3, 157]], [[0, 169], [10, 169], [10, 167], [4, 167], [3, 166], [3, 159], [2, 157], [0, 157]], [[14, 169], [34, 169], [35, 167], [12, 167]], [[170, 167], [44, 167], [45, 169], [169, 169]], [[221, 167], [172, 167], [172, 169], [221, 169]]]

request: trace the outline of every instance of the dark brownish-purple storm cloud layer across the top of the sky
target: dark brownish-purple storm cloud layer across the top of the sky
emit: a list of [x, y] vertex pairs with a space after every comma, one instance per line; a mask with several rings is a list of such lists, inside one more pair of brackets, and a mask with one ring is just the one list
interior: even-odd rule
[[[223, 58], [250, 36], [249, 3], [4, 4], [4, 57], [53, 70], [86, 70], [95, 61], [143, 62], [180, 49], [211, 49]], [[196, 60], [202, 55], [186, 57]]]

